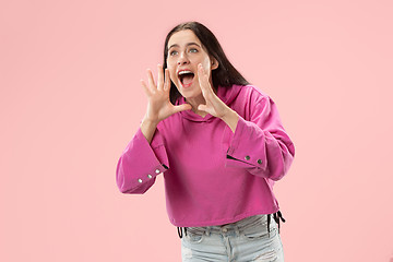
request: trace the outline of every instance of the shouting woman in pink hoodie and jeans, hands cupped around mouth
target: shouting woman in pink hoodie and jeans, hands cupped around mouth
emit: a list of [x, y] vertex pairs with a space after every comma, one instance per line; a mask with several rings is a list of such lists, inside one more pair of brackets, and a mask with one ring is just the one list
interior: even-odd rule
[[284, 261], [273, 184], [295, 147], [273, 100], [198, 22], [168, 33], [157, 83], [147, 70], [141, 84], [147, 111], [118, 162], [119, 190], [144, 193], [164, 175], [182, 261]]

